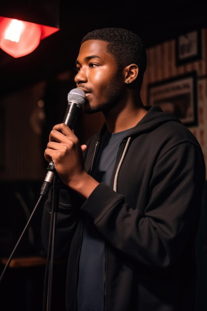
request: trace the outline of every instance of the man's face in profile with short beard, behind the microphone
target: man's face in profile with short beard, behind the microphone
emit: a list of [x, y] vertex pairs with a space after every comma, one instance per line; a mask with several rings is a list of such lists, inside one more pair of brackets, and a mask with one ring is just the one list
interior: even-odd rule
[[114, 57], [107, 52], [108, 43], [87, 40], [80, 47], [76, 60], [76, 86], [84, 90], [86, 113], [102, 111], [108, 113], [120, 100], [124, 76]]

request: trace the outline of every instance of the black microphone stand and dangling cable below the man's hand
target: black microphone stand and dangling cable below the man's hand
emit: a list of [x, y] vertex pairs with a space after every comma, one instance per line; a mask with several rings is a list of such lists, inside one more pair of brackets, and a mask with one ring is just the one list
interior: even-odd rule
[[[52, 167], [53, 166], [53, 167]], [[55, 243], [55, 227], [56, 227], [56, 218], [58, 213], [58, 206], [59, 206], [59, 194], [60, 194], [60, 178], [57, 176], [57, 173], [54, 168], [54, 164], [51, 165], [51, 163], [48, 166], [48, 174], [50, 176], [50, 181], [52, 181], [51, 177], [53, 178], [53, 187], [51, 191], [51, 220], [50, 220], [50, 229], [49, 229], [49, 242], [48, 242], [48, 254], [47, 254], [47, 261], [46, 261], [46, 270], [45, 270], [45, 278], [44, 278], [44, 291], [43, 291], [43, 311], [50, 311], [51, 310], [51, 301], [52, 301], [52, 282], [53, 282], [53, 258], [54, 258], [54, 243]], [[52, 171], [53, 170], [53, 171]], [[46, 179], [47, 179], [46, 175]], [[46, 179], [43, 182], [43, 185], [41, 187], [40, 191], [40, 197], [26, 223], [26, 226], [24, 227], [18, 241], [16, 242], [5, 266], [4, 269], [0, 275], [0, 282], [3, 278], [3, 275], [5, 274], [6, 269], [8, 268], [11, 259], [16, 251], [16, 248], [18, 247], [24, 233], [26, 232], [32, 217], [34, 213], [37, 210], [37, 207], [39, 206], [41, 200], [43, 199], [44, 195], [47, 193], [49, 188], [51, 187], [51, 183], [46, 181]], [[47, 296], [46, 296], [47, 293]]]

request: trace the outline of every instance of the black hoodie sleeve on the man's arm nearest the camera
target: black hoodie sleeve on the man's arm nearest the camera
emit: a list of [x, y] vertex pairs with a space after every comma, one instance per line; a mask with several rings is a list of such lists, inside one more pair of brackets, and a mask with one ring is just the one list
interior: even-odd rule
[[189, 139], [175, 140], [156, 156], [148, 153], [144, 157], [138, 165], [143, 171], [137, 173], [138, 183], [128, 183], [136, 169], [128, 163], [123, 188], [119, 180], [117, 193], [99, 184], [82, 210], [114, 249], [146, 266], [169, 267], [183, 252], [189, 255], [195, 243], [204, 158], [199, 145]]

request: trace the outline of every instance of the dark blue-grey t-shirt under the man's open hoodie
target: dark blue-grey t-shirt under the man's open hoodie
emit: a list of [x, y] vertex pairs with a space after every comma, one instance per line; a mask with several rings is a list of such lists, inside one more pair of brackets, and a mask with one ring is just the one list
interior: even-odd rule
[[[104, 134], [92, 171], [97, 181], [110, 184], [119, 145], [128, 131]], [[104, 249], [101, 234], [92, 220], [86, 217], [79, 261], [78, 311], [104, 309]]]

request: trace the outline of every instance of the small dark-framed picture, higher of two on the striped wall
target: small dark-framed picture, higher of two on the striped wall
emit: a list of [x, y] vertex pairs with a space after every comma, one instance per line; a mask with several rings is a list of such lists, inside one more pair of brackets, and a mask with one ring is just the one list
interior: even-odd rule
[[195, 30], [176, 38], [176, 66], [202, 59], [202, 31]]

